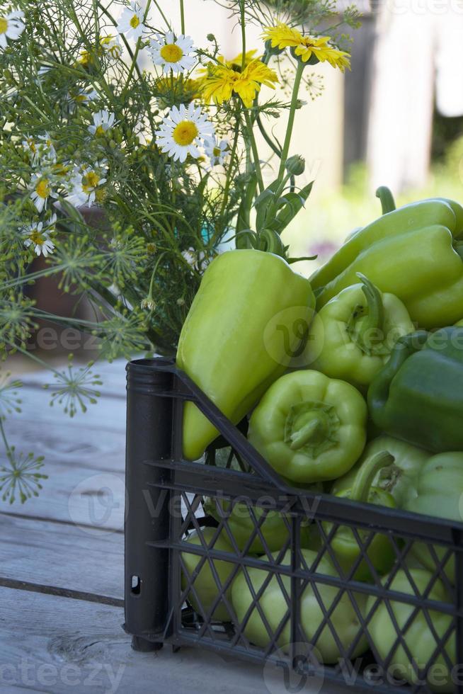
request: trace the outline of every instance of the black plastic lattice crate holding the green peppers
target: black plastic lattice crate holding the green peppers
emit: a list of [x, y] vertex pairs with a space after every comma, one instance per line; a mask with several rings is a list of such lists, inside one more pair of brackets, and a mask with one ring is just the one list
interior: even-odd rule
[[[185, 400], [193, 400], [221, 434], [202, 462], [182, 458]], [[403, 649], [413, 673], [408, 690], [432, 691], [427, 678], [435, 676], [438, 682], [443, 664], [452, 671], [451, 690], [463, 693], [463, 523], [287, 486], [248, 443], [240, 427], [233, 426], [173, 361], [162, 358], [135, 360], [127, 365], [126, 485], [125, 630], [133, 635], [134, 648], [154, 650], [165, 643], [174, 648], [207, 647], [222, 654], [292, 667], [354, 690], [377, 692], [397, 691], [404, 673], [398, 668], [391, 670], [391, 664], [394, 654]], [[250, 509], [253, 537], [247, 548], [252, 549], [252, 542], [256, 542], [261, 547], [260, 555], [248, 554], [246, 547], [240, 550], [236, 545], [228, 522], [234, 504]], [[281, 511], [286, 519], [287, 537], [278, 557], [271, 554], [262, 533], [269, 507]], [[208, 513], [211, 508], [215, 510], [212, 516]], [[319, 538], [319, 549], [315, 555], [310, 554], [310, 562], [302, 549], [302, 535], [307, 528]], [[331, 547], [339, 528], [350, 528], [360, 552], [347, 574]], [[197, 545], [186, 542], [192, 531]], [[387, 536], [394, 552], [387, 584], [367, 554], [376, 533]], [[229, 551], [216, 546], [219, 535], [227, 538]], [[421, 589], [413, 581], [416, 542], [425, 543], [428, 559], [434, 564], [432, 578]], [[282, 564], [285, 550], [287, 563]], [[185, 552], [190, 559], [192, 555], [197, 557], [193, 569], [185, 563]], [[215, 563], [220, 561], [230, 564], [223, 582]], [[329, 574], [321, 571], [327, 562], [335, 569]], [[370, 570], [369, 582], [354, 577], [360, 562]], [[450, 562], [455, 562], [452, 581], [448, 575], [454, 576], [453, 569], [452, 574], [445, 570]], [[209, 605], [195, 589], [198, 572], [205, 567], [218, 588], [217, 599]], [[256, 573], [258, 569], [265, 570], [265, 574]], [[397, 589], [395, 583], [391, 587], [398, 572], [411, 585], [411, 594]], [[238, 574], [249, 594], [248, 610], [241, 620], [230, 598]], [[257, 582], [256, 576], [260, 577]], [[435, 598], [439, 582], [449, 602]], [[270, 584], [283, 598], [282, 614], [280, 608], [280, 612], [275, 609], [270, 615], [261, 604]], [[316, 605], [319, 613], [311, 628], [302, 619], [306, 600]], [[406, 605], [406, 617], [399, 609], [401, 605]], [[392, 641], [389, 637], [391, 642], [384, 646], [387, 652], [378, 651], [370, 633], [377, 608], [387, 610], [386, 619], [393, 633]], [[347, 610], [342, 614], [352, 622], [348, 638], [337, 629], [341, 609]], [[271, 624], [275, 618], [278, 624]], [[433, 647], [426, 661], [417, 663], [408, 648], [407, 634], [420, 623], [416, 620], [423, 619], [423, 637], [428, 632]], [[264, 634], [260, 645], [252, 640], [256, 630], [251, 628], [250, 620], [257, 620], [263, 627], [263, 631], [258, 629], [260, 635]], [[452, 642], [455, 661], [454, 654], [450, 658], [447, 652]], [[356, 657], [359, 649], [361, 654]], [[321, 662], [323, 657], [333, 659], [333, 653], [338, 656], [334, 662]]]

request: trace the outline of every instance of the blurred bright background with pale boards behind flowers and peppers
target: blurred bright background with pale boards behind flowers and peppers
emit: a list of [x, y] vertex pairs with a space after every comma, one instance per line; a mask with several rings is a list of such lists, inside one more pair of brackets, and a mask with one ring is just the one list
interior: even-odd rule
[[[316, 261], [297, 266], [307, 275], [352, 229], [379, 216], [379, 185], [389, 186], [398, 204], [438, 195], [463, 202], [462, 0], [358, 0], [357, 5], [362, 27], [353, 33], [352, 70], [343, 75], [320, 64], [309, 68], [321, 96], [312, 100], [302, 93], [307, 104], [297, 112], [292, 154], [306, 160], [302, 183], [315, 183], [305, 210], [285, 232], [285, 243], [294, 256], [318, 254]], [[205, 45], [207, 13], [207, 28], [215, 27], [225, 57], [240, 52], [239, 30], [227, 8], [188, 0], [185, 13], [196, 45]], [[176, 7], [170, 17], [174, 27], [180, 25]], [[249, 48], [261, 45], [259, 33], [249, 25]], [[140, 62], [149, 68], [147, 56]], [[280, 123], [275, 134], [281, 136], [284, 127]], [[265, 143], [260, 145], [265, 154]], [[271, 159], [265, 174], [270, 181]], [[61, 295], [52, 280], [38, 282], [31, 292], [51, 312], [86, 317], [86, 305]], [[57, 349], [56, 341], [47, 346], [46, 331], [45, 339], [43, 330], [40, 335], [31, 348], [48, 361], [62, 363], [75, 351], [72, 336], [70, 342], [60, 339]], [[88, 354], [87, 348], [83, 358]], [[18, 370], [32, 366], [22, 361]]]

